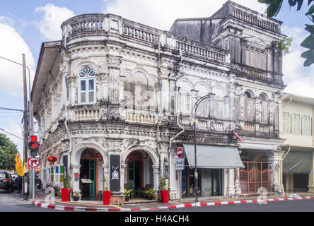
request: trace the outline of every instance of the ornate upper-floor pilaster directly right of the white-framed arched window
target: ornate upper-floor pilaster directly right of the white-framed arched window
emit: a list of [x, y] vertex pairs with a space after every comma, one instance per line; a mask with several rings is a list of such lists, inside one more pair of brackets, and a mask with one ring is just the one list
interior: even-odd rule
[[112, 104], [119, 103], [120, 64], [122, 57], [107, 54], [109, 71], [108, 99]]

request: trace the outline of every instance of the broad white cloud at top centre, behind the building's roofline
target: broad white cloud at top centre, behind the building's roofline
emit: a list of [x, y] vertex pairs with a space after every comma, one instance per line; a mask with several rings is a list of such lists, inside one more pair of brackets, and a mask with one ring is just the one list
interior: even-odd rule
[[[178, 18], [209, 17], [226, 0], [104, 0], [104, 13], [113, 13], [138, 23], [161, 30], [169, 30]], [[264, 12], [265, 4], [253, 0], [237, 0], [236, 3]]]

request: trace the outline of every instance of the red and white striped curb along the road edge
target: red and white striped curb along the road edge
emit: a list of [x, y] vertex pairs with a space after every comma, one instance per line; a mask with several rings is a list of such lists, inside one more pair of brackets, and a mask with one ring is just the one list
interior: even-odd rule
[[50, 205], [47, 203], [40, 203], [40, 201], [33, 201], [35, 206], [42, 208], [49, 208], [54, 210], [71, 210], [71, 211], [86, 211], [86, 212], [122, 212], [122, 211], [149, 211], [149, 210], [163, 210], [172, 208], [187, 208], [187, 207], [199, 207], [199, 206], [219, 206], [219, 205], [233, 205], [240, 203], [263, 203], [263, 202], [275, 202], [275, 201], [291, 201], [291, 200], [303, 200], [314, 198], [314, 196], [303, 196], [299, 198], [268, 198], [261, 200], [245, 200], [245, 201], [222, 201], [222, 202], [211, 202], [211, 203], [190, 203], [180, 204], [175, 206], [162, 206], [157, 208], [90, 208], [90, 207], [77, 207], [77, 206], [57, 206]]

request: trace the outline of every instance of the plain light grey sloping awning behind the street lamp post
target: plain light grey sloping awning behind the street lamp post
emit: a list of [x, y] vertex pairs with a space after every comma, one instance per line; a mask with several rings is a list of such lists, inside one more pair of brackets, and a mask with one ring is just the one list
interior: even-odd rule
[[[184, 144], [187, 162], [194, 168], [194, 145]], [[197, 167], [207, 169], [235, 169], [244, 165], [236, 147], [197, 145]]]

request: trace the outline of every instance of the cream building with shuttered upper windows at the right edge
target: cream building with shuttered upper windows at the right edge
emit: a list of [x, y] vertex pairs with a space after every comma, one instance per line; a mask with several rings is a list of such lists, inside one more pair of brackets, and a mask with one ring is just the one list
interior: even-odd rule
[[314, 191], [314, 99], [290, 93], [281, 96], [280, 133], [285, 155], [282, 183], [286, 192]]

